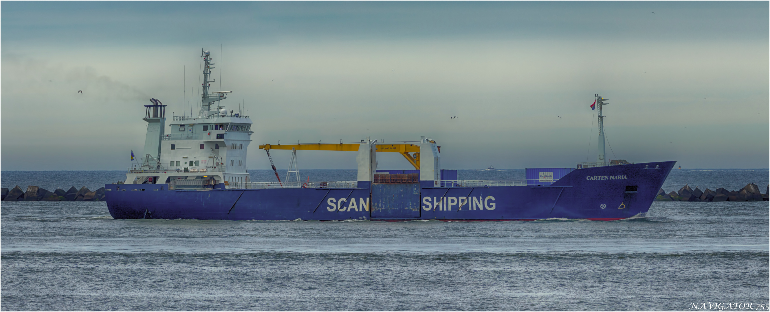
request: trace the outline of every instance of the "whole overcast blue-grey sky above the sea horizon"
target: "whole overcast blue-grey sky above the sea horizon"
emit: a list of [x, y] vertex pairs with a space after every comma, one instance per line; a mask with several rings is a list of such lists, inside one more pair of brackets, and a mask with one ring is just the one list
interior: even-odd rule
[[[2, 170], [129, 167], [149, 98], [169, 116], [198, 104], [201, 48], [213, 91], [233, 90], [223, 104], [254, 122], [249, 169], [269, 169], [257, 146], [279, 140], [420, 135], [445, 169], [574, 168], [596, 159], [594, 94], [611, 103], [609, 158], [768, 168], [768, 2], [5, 1], [0, 14]], [[300, 170], [356, 168], [355, 153], [298, 154]]]

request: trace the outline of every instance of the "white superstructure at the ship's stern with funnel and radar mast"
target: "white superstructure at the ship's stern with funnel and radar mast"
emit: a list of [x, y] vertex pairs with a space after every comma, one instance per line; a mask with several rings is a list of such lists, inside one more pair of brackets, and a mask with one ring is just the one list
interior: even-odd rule
[[[129, 168], [126, 184], [170, 183], [172, 185], [213, 185], [221, 182], [249, 182], [246, 150], [251, 142], [251, 119], [233, 114], [220, 104], [232, 91], [209, 92], [213, 69], [209, 51], [202, 51], [203, 92], [197, 116], [174, 116], [165, 132], [166, 105], [152, 99], [145, 105], [148, 122], [142, 164]], [[216, 103], [215, 103], [216, 102]]]

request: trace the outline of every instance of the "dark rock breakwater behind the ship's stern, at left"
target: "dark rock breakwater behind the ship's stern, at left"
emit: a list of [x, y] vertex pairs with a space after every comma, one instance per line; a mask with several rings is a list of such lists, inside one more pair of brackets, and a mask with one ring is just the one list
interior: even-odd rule
[[27, 191], [22, 191], [18, 185], [10, 190], [0, 189], [0, 201], [103, 201], [105, 196], [104, 187], [96, 191], [85, 186], [80, 189], [73, 186], [68, 191], [61, 188], [49, 191], [34, 185], [29, 185]]

